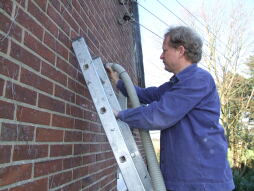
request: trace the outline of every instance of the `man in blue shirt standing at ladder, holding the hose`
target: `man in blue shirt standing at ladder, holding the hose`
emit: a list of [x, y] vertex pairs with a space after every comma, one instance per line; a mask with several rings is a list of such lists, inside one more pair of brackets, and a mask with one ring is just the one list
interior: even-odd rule
[[[116, 117], [132, 128], [161, 130], [160, 167], [168, 190], [234, 189], [227, 141], [219, 124], [216, 85], [212, 76], [197, 66], [202, 45], [190, 28], [170, 28], [160, 59], [174, 76], [159, 87], [136, 87], [140, 102], [148, 105], [116, 112]], [[127, 95], [112, 69], [109, 74]]]

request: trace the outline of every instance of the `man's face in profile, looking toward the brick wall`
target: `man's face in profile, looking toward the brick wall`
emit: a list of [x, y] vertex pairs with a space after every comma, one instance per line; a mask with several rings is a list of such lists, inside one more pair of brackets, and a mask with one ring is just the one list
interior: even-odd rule
[[169, 43], [168, 43], [169, 39], [170, 37], [167, 37], [163, 41], [162, 53], [161, 53], [160, 59], [164, 63], [165, 70], [167, 70], [168, 72], [174, 73], [178, 65], [179, 51], [169, 46]]

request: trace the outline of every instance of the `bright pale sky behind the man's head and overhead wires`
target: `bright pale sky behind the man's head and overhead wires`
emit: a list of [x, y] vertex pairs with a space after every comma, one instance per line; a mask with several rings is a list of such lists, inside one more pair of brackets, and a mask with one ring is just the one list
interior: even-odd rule
[[[169, 26], [176, 25], [188, 25], [190, 20], [195, 20], [197, 23], [196, 31], [201, 35], [204, 31], [204, 25], [201, 17], [198, 13], [200, 7], [205, 2], [204, 6], [213, 9], [214, 3], [215, 9], [221, 9], [224, 17], [221, 18], [221, 22], [227, 23], [230, 20], [229, 10], [234, 5], [236, 0], [138, 0], [139, 9], [139, 23], [141, 31], [141, 43], [143, 51], [143, 62], [145, 72], [146, 87], [159, 86], [160, 84], [169, 80], [172, 76], [171, 73], [164, 70], [164, 65], [159, 59], [162, 51], [163, 35]], [[238, 0], [239, 1], [239, 0]], [[253, 0], [242, 0], [246, 6], [246, 10], [254, 12]], [[163, 5], [162, 5], [163, 4]], [[182, 6], [181, 6], [181, 5]], [[183, 8], [184, 7], [184, 8]], [[240, 7], [239, 7], [240, 8]], [[191, 13], [188, 13], [188, 11]], [[237, 9], [236, 9], [237, 11]], [[208, 14], [208, 13], [207, 13]], [[194, 16], [192, 16], [194, 15]], [[157, 17], [157, 18], [156, 18]], [[188, 18], [192, 17], [192, 18]], [[195, 17], [195, 18], [194, 18]], [[253, 18], [253, 19], [252, 19]], [[251, 16], [250, 21], [247, 23], [247, 29], [249, 30], [249, 41], [253, 41], [254, 45], [254, 16]], [[146, 28], [146, 29], [145, 29]], [[147, 30], [148, 29], [148, 30]], [[155, 33], [155, 34], [154, 34]], [[228, 31], [224, 31], [224, 36], [221, 36], [219, 41], [221, 42], [221, 50], [223, 49], [223, 43], [227, 39]], [[204, 36], [201, 38], [206, 42]], [[204, 46], [205, 47], [205, 46]], [[225, 49], [225, 46], [224, 46]], [[222, 52], [222, 51], [221, 51]], [[246, 59], [250, 54], [254, 55], [254, 46], [248, 47], [248, 52], [242, 57]], [[205, 63], [199, 64], [200, 67], [205, 67]], [[243, 68], [242, 70], [245, 70]], [[159, 132], [155, 131], [151, 133], [152, 138], [158, 138]]]

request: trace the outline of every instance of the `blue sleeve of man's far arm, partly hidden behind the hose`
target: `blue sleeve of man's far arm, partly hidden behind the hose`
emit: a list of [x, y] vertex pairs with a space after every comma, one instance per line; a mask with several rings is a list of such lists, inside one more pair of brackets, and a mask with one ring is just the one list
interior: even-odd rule
[[[125, 89], [125, 86], [122, 80], [118, 80], [116, 87], [123, 93], [123, 95], [128, 97], [127, 91]], [[157, 87], [140, 88], [135, 86], [135, 89], [136, 89], [136, 93], [138, 95], [139, 101], [142, 104], [149, 104], [159, 99], [159, 93], [158, 93]]]

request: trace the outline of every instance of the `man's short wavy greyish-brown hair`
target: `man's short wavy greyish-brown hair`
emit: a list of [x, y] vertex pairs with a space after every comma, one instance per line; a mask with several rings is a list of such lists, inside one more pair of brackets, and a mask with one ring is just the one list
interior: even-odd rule
[[202, 58], [203, 42], [199, 35], [189, 27], [177, 26], [170, 27], [164, 38], [170, 37], [169, 46], [185, 48], [185, 58], [192, 63], [198, 63]]

